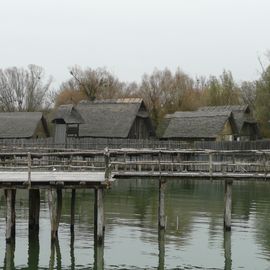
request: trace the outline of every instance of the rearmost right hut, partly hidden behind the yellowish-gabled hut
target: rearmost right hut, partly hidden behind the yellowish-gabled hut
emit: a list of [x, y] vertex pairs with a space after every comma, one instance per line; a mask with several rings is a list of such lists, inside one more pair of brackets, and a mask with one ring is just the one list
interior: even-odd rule
[[254, 119], [248, 105], [208, 106], [201, 107], [198, 111], [213, 113], [231, 112], [237, 126], [236, 140], [250, 141], [260, 138], [258, 123]]

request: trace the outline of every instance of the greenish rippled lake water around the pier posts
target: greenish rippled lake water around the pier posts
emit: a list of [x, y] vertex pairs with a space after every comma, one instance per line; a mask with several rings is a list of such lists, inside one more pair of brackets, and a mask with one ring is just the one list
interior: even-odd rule
[[5, 243], [0, 191], [0, 269], [270, 269], [270, 184], [233, 184], [232, 231], [223, 230], [224, 185], [168, 180], [167, 228], [158, 233], [158, 183], [119, 180], [105, 191], [104, 247], [94, 247], [93, 191], [77, 191], [75, 234], [63, 193], [59, 241], [51, 246], [45, 192], [39, 236], [28, 236], [28, 196], [17, 192], [16, 243]]

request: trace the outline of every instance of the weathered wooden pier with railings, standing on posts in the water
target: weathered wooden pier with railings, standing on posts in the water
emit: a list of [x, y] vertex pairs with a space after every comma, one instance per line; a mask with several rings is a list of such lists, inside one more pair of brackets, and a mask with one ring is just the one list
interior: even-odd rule
[[0, 153], [0, 188], [6, 197], [6, 240], [15, 237], [17, 189], [29, 190], [29, 230], [38, 230], [40, 190], [47, 192], [51, 239], [57, 239], [62, 190], [71, 189], [70, 228], [74, 230], [76, 189], [94, 189], [94, 233], [104, 238], [104, 189], [118, 178], [156, 179], [159, 182], [158, 224], [165, 221], [165, 187], [169, 179], [216, 180], [225, 183], [224, 228], [231, 229], [232, 184], [270, 180], [270, 151], [214, 151], [166, 149], [105, 149], [104, 151], [12, 149]]

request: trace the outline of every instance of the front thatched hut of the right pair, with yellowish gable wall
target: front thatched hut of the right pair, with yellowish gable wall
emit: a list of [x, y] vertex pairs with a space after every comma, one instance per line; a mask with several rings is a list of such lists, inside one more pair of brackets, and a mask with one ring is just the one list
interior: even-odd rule
[[175, 112], [158, 127], [161, 139], [232, 141], [237, 127], [230, 112]]

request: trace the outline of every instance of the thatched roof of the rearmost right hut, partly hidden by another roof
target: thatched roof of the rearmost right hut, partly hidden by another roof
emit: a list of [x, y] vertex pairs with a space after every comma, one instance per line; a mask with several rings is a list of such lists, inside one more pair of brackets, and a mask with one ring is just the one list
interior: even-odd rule
[[232, 112], [239, 133], [245, 123], [256, 124], [248, 105], [207, 106], [199, 108], [198, 111]]

